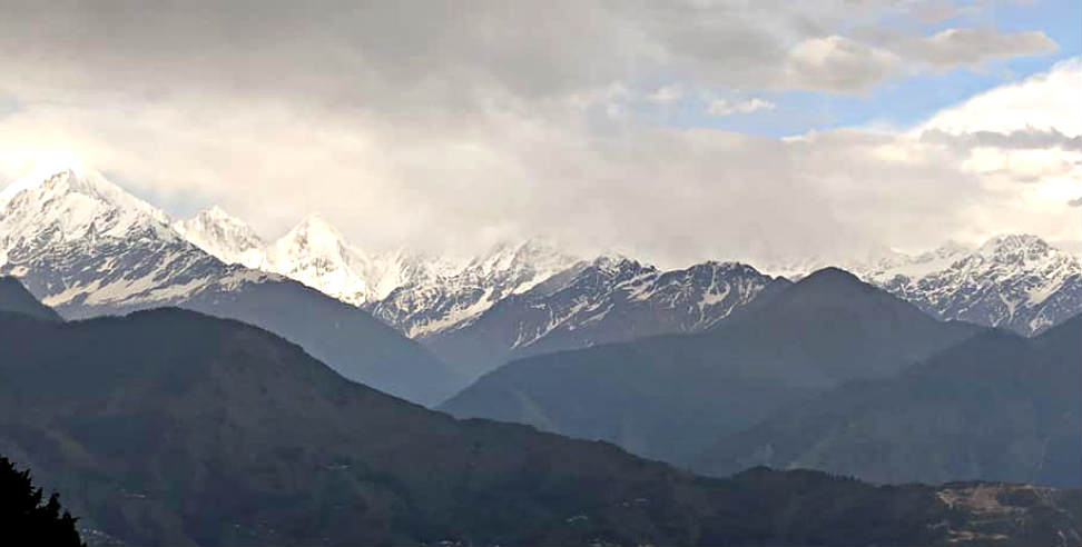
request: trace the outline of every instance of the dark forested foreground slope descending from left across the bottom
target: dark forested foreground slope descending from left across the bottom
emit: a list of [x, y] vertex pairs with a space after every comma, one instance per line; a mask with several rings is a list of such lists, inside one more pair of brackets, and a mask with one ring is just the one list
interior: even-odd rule
[[132, 544], [1078, 538], [1078, 491], [765, 469], [702, 479], [610, 445], [455, 421], [266, 331], [176, 309], [0, 315], [0, 451], [63, 491], [87, 535]]

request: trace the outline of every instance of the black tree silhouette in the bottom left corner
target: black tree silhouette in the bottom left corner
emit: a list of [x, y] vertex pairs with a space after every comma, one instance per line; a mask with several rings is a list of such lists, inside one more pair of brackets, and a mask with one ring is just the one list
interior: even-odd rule
[[18, 471], [0, 456], [0, 543], [6, 545], [85, 545], [76, 531], [76, 520], [60, 507], [53, 493], [42, 503], [41, 488], [35, 488], [30, 470]]

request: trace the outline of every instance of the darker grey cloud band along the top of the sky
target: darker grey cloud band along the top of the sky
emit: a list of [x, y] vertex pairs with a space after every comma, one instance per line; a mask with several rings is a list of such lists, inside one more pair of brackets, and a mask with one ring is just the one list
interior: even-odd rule
[[[0, 50], [16, 53], [4, 67], [18, 70], [22, 86], [39, 89], [62, 82], [72, 93], [105, 89], [121, 100], [284, 95], [416, 115], [659, 76], [704, 87], [863, 92], [905, 70], [892, 56], [954, 66], [1051, 42], [1040, 32], [975, 29], [895, 49], [835, 37], [854, 23], [883, 27], [884, 18], [943, 10], [925, 3], [0, 0]], [[801, 54], [809, 44], [824, 56]]]

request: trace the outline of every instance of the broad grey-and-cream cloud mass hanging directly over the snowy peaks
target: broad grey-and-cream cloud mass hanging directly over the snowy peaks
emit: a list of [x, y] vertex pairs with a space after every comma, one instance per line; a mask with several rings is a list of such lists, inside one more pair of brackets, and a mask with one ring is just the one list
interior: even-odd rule
[[907, 61], [845, 26], [895, 6], [0, 0], [0, 70], [19, 74], [0, 152], [71, 149], [268, 237], [321, 211], [371, 248], [551, 236], [679, 262], [936, 242], [1010, 198], [956, 149], [898, 162], [875, 153], [893, 136], [785, 142], [624, 108], [673, 82], [866, 91]]

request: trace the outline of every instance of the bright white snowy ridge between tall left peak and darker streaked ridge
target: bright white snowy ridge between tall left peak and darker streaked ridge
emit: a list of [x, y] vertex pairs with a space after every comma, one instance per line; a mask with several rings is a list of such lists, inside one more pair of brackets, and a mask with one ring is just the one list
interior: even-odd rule
[[371, 311], [411, 338], [462, 326], [577, 262], [538, 241], [496, 245], [464, 265], [405, 249], [366, 252], [318, 215], [270, 243], [218, 208], [174, 227], [227, 263], [299, 281]]

